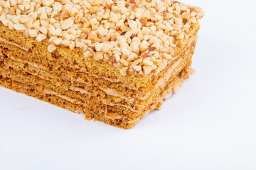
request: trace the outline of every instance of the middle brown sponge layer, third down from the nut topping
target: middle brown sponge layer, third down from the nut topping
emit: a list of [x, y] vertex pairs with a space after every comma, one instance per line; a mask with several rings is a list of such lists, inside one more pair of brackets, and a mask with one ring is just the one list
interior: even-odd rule
[[[43, 79], [43, 81], [47, 80], [46, 82], [43, 82], [43, 84], [49, 84], [48, 85], [49, 87], [54, 86], [54, 88], [60, 88], [65, 91], [72, 90], [73, 93], [70, 94], [70, 97], [73, 98], [73, 96], [77, 96], [76, 98], [80, 100], [80, 102], [82, 103], [87, 102], [86, 101], [87, 98], [83, 98], [83, 96], [90, 96], [92, 98], [96, 98], [99, 102], [102, 102], [109, 106], [117, 106], [119, 108], [119, 111], [120, 111], [120, 108], [124, 107], [124, 108], [127, 108], [128, 110], [131, 110], [132, 112], [140, 113], [144, 110], [144, 108], [146, 108], [148, 103], [151, 103], [151, 101], [155, 96], [158, 96], [158, 94], [166, 86], [166, 84], [170, 83], [176, 77], [176, 75], [179, 72], [181, 72], [183, 67], [185, 67], [188, 64], [191, 64], [190, 62], [191, 62], [191, 57], [193, 55], [193, 52], [194, 52], [194, 46], [191, 46], [188, 48], [188, 50], [186, 50], [186, 52], [183, 53], [183, 55], [181, 55], [180, 58], [178, 58], [178, 60], [180, 59], [182, 60], [181, 62], [179, 62], [179, 64], [173, 70], [173, 72], [169, 73], [169, 79], [166, 79], [164, 81], [164, 84], [159, 86], [159, 88], [156, 89], [156, 91], [153, 91], [153, 93], [149, 96], [149, 98], [145, 98], [145, 100], [142, 100], [142, 101], [134, 101], [134, 102], [131, 102], [123, 98], [119, 98], [118, 97], [120, 96], [119, 94], [115, 96], [106, 94], [105, 91], [102, 91], [101, 89], [97, 88], [97, 86], [94, 86], [92, 88], [91, 86], [86, 86], [85, 84], [74, 84], [71, 81], [63, 80], [60, 77], [55, 76], [54, 74], [50, 74], [41, 69], [37, 69], [31, 65], [26, 65], [21, 62], [17, 62], [15, 60], [11, 60], [9, 58], [11, 55], [7, 56], [5, 52], [4, 52], [4, 55], [6, 55], [6, 57], [5, 58], [3, 57], [2, 61], [4, 62], [4, 64], [6, 64], [6, 66], [12, 67], [16, 72], [23, 72], [23, 74], [25, 74], [23, 76], [23, 79], [25, 79], [25, 81], [26, 79], [31, 79], [29, 77], [33, 77], [32, 75], [35, 75], [36, 77], [40, 77], [41, 79]], [[11, 58], [14, 58], [14, 57], [11, 57]], [[34, 83], [34, 82], [36, 82], [36, 80], [31, 81], [31, 83]], [[56, 86], [55, 84], [58, 84], [58, 86]], [[67, 92], [63, 92], [63, 94], [66, 94], [66, 93]]]

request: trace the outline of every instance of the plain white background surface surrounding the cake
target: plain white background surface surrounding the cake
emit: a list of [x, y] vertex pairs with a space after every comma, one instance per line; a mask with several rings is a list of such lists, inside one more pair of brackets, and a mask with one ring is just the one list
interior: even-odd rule
[[178, 94], [132, 130], [0, 88], [0, 169], [256, 169], [256, 2], [203, 7]]

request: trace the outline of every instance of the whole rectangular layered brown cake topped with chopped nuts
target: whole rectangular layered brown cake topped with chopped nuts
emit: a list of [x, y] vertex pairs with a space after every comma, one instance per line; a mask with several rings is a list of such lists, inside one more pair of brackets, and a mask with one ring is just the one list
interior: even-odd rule
[[203, 15], [169, 0], [0, 0], [0, 85], [134, 128], [193, 74]]

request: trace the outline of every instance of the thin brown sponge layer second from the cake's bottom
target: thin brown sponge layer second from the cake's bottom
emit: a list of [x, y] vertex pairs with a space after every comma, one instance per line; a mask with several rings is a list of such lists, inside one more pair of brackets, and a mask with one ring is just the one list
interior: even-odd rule
[[[6, 61], [7, 60], [7, 61]], [[102, 97], [100, 94], [97, 96], [92, 96], [90, 94], [81, 94], [79, 91], [72, 91], [69, 89], [63, 88], [63, 86], [55, 86], [55, 84], [52, 84], [50, 81], [46, 81], [45, 79], [42, 79], [38, 76], [33, 76], [32, 74], [29, 74], [28, 72], [24, 71], [18, 71], [14, 70], [11, 65], [11, 61], [8, 59], [2, 60], [2, 72], [5, 72], [5, 77], [10, 77], [12, 79], [15, 79], [17, 81], [21, 81], [23, 84], [29, 84], [34, 86], [41, 86], [41, 89], [48, 88], [48, 91], [53, 91], [55, 94], [60, 93], [60, 96], [68, 95], [68, 98], [71, 98], [70, 100], [75, 103], [84, 103], [85, 106], [87, 106], [89, 103], [93, 103], [93, 106], [95, 106], [97, 111], [105, 111], [105, 107], [112, 106], [108, 108], [108, 112], [117, 113], [119, 115], [126, 115], [129, 116], [129, 118], [132, 118], [133, 116], [137, 116], [142, 113], [142, 111], [145, 111], [146, 106], [148, 106], [149, 103], [152, 103], [152, 101], [159, 96], [161, 91], [164, 89], [164, 86], [159, 88], [158, 91], [155, 91], [154, 94], [151, 95], [151, 98], [149, 98], [146, 101], [141, 101], [140, 103], [136, 103], [138, 109], [132, 108], [132, 106], [129, 106], [129, 103], [111, 103], [110, 96]], [[7, 64], [8, 66], [6, 66]], [[186, 67], [188, 65], [191, 65], [191, 55], [186, 58], [186, 60], [183, 61], [183, 67]], [[8, 69], [7, 71], [4, 69]], [[11, 72], [13, 72], [11, 74]], [[181, 71], [179, 71], [181, 72]], [[171, 78], [167, 84], [170, 84], [171, 81], [179, 74], [177, 72], [173, 78]], [[97, 91], [91, 91], [91, 94], [97, 93]], [[101, 103], [101, 104], [100, 104]], [[96, 111], [96, 110], [95, 110]]]

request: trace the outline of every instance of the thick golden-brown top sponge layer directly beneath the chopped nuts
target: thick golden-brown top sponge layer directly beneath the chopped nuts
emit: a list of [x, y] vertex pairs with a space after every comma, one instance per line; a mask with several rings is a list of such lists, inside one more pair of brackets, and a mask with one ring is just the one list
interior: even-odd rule
[[[174, 64], [173, 60], [186, 50], [188, 45], [195, 39], [194, 37], [199, 28], [198, 23], [191, 27], [191, 30], [186, 35], [187, 38], [178, 42], [176, 50], [174, 50], [173, 54], [169, 54], [172, 56], [171, 59], [166, 62], [165, 68], [156, 75], [127, 74], [124, 77], [119, 74], [119, 69], [110, 67], [109, 63], [106, 64], [104, 61], [95, 61], [90, 58], [81, 57], [80, 53], [69, 52], [65, 47], [58, 47], [55, 52], [50, 53], [47, 50], [47, 42], [38, 42], [35, 38], [26, 38], [22, 33], [9, 30], [9, 28], [1, 23], [0, 47], [7, 48], [12, 53], [21, 56], [23, 60], [39, 64], [51, 72], [57, 74], [70, 72], [74, 78], [79, 78], [82, 82], [93, 81], [93, 84], [113, 84], [112, 86], [116, 86], [116, 89], [123, 89], [124, 86], [129, 87], [129, 89], [134, 89], [131, 94], [136, 95], [137, 91], [142, 91], [143, 93], [143, 91], [152, 89], [158, 83], [159, 78], [164, 75], [168, 67]], [[95, 77], [97, 77], [97, 80], [95, 80]], [[111, 83], [104, 80], [109, 80]]]

